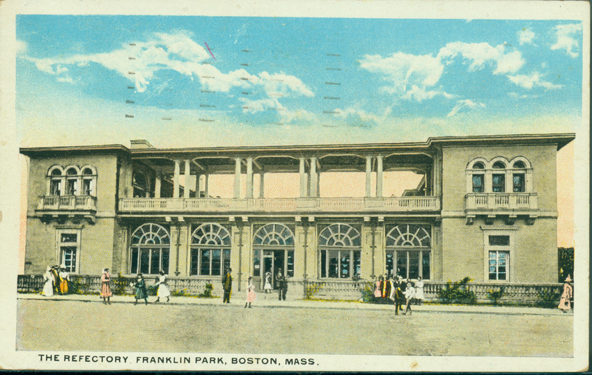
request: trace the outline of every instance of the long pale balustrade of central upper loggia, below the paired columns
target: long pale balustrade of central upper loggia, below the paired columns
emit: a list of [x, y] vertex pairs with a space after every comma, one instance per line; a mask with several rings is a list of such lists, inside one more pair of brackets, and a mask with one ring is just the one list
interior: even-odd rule
[[435, 196], [389, 198], [122, 198], [120, 212], [426, 212]]

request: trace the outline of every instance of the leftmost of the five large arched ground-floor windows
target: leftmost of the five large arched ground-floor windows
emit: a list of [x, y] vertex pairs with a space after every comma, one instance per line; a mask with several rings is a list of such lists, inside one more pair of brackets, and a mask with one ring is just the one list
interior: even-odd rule
[[140, 225], [131, 237], [131, 273], [169, 273], [169, 251], [171, 237], [162, 225], [146, 223]]

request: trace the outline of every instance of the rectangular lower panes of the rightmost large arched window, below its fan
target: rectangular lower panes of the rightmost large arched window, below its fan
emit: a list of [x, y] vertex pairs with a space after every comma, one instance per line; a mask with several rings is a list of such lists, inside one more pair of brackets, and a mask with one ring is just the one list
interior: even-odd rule
[[430, 250], [387, 250], [387, 273], [402, 278], [421, 276], [429, 280], [430, 253]]

